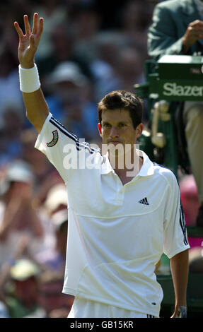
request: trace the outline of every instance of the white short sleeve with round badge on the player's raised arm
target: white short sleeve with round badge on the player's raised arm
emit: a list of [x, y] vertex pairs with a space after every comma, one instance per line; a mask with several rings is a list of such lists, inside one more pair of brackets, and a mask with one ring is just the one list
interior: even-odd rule
[[78, 170], [79, 152], [93, 153], [88, 143], [81, 142], [76, 135], [71, 134], [52, 114], [48, 114], [37, 136], [35, 148], [44, 153], [54, 165], [64, 182]]

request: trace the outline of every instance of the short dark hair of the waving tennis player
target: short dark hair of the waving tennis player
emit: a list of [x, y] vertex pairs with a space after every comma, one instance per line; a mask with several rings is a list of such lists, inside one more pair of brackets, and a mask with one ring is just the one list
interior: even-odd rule
[[107, 109], [126, 109], [129, 111], [134, 129], [141, 124], [143, 102], [137, 95], [134, 95], [134, 93], [125, 90], [117, 90], [105, 95], [98, 103], [98, 121], [100, 125], [102, 122], [102, 112]]

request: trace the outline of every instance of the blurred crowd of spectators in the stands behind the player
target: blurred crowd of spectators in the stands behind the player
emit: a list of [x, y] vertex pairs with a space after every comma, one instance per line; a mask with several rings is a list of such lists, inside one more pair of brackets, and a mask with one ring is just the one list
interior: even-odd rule
[[[66, 317], [74, 300], [62, 294], [66, 189], [34, 148], [37, 133], [25, 117], [19, 90], [13, 22], [23, 28], [23, 15], [32, 23], [35, 12], [45, 19], [35, 62], [50, 112], [79, 138], [98, 143], [100, 98], [111, 90], [133, 92], [134, 84], [144, 83], [147, 29], [158, 1], [110, 2], [0, 4], [0, 317]], [[182, 184], [182, 195], [194, 187], [192, 181], [191, 176]], [[195, 220], [193, 189], [183, 200], [193, 207], [193, 214], [186, 211], [189, 225]]]

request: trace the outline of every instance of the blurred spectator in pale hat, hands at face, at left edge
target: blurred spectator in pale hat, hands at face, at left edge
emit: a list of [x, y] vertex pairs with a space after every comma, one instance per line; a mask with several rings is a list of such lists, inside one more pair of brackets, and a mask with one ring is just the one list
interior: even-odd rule
[[30, 255], [40, 251], [43, 229], [33, 207], [34, 175], [29, 165], [16, 160], [9, 165], [1, 178], [0, 206], [0, 267], [13, 258], [22, 236], [28, 237]]

